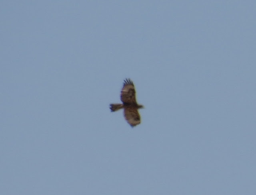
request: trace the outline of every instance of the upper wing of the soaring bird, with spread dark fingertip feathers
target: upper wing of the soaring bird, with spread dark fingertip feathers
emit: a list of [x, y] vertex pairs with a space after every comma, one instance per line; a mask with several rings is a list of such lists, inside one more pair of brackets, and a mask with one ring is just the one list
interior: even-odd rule
[[135, 96], [135, 88], [130, 79], [124, 80], [124, 87], [121, 91], [121, 101], [124, 104], [137, 104]]

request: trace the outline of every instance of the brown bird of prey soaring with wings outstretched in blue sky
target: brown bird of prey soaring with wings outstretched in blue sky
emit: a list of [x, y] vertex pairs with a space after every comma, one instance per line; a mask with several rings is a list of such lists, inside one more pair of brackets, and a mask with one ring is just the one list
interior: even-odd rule
[[123, 102], [122, 104], [110, 104], [111, 112], [124, 108], [124, 118], [130, 126], [134, 127], [140, 124], [138, 109], [143, 108], [143, 106], [136, 102], [134, 84], [130, 79], [124, 80], [124, 86], [121, 91], [121, 101]]

